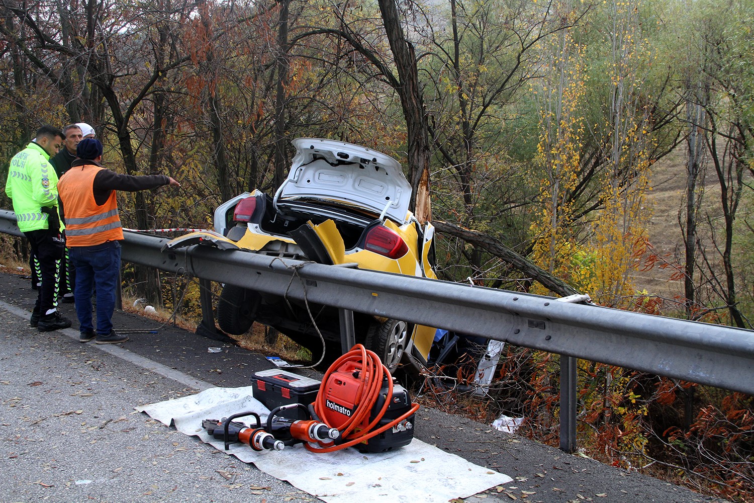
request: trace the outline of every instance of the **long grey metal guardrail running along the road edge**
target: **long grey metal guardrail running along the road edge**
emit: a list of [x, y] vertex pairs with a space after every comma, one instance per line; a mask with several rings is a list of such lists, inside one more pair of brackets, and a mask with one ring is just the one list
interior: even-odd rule
[[[14, 228], [0, 210], [0, 232]], [[165, 238], [124, 234], [122, 259], [164, 271], [754, 394], [754, 330], [214, 247], [163, 252]]]

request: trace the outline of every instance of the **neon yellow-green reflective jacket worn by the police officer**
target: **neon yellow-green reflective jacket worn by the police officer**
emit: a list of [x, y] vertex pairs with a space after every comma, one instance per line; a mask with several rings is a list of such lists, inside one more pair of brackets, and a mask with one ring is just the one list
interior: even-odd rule
[[13, 199], [21, 232], [48, 228], [48, 214], [41, 207], [57, 206], [57, 174], [50, 156], [37, 143], [29, 143], [11, 159], [5, 193]]

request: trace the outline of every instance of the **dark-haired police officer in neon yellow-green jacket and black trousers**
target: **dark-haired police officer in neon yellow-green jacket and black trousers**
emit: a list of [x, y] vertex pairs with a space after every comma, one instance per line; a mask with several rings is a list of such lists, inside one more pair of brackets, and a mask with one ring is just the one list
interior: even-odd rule
[[57, 174], [50, 164], [63, 144], [63, 132], [42, 126], [35, 139], [11, 159], [5, 192], [13, 199], [18, 228], [32, 247], [41, 285], [29, 321], [40, 332], [71, 326], [57, 311], [57, 270], [66, 247], [57, 209]]

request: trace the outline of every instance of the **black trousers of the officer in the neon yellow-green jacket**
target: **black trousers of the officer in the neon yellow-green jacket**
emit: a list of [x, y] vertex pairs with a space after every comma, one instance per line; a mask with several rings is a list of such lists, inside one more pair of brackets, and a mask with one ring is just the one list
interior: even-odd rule
[[63, 238], [59, 232], [46, 228], [23, 234], [29, 240], [32, 253], [39, 262], [41, 286], [37, 290], [34, 311], [44, 316], [47, 311], [57, 308], [58, 271], [60, 259], [63, 258], [66, 250], [66, 238]]

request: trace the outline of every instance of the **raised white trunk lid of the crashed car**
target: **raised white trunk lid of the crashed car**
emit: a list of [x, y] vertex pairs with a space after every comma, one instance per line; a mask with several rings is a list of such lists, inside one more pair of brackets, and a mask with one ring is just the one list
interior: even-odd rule
[[296, 138], [296, 155], [275, 201], [317, 200], [406, 222], [411, 185], [400, 163], [363, 146], [322, 138]]

